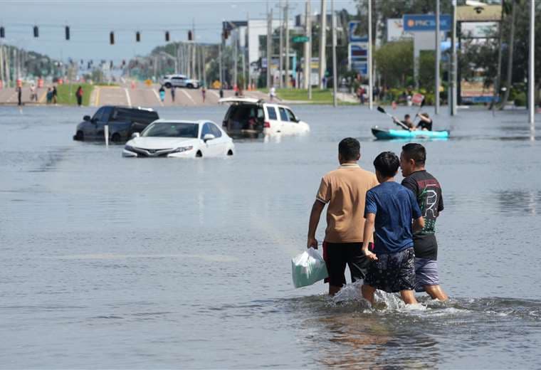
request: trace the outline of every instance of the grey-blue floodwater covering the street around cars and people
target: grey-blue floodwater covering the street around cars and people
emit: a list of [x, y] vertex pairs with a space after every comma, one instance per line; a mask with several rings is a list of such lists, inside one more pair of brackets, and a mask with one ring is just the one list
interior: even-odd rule
[[322, 282], [295, 289], [290, 259], [340, 139], [359, 138], [367, 169], [404, 142], [372, 139], [391, 125], [375, 110], [294, 111], [310, 134], [182, 160], [73, 142], [91, 108], [1, 107], [0, 367], [539, 368], [541, 136], [525, 112], [436, 119], [452, 129], [426, 142], [451, 301], [380, 295], [372, 310], [353, 285], [335, 300]]

